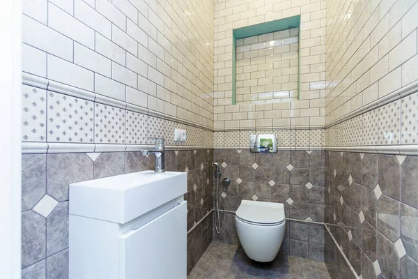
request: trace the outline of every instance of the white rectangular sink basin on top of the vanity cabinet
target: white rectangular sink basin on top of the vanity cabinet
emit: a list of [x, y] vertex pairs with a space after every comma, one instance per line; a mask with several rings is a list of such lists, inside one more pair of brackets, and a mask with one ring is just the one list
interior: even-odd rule
[[70, 214], [125, 224], [187, 192], [187, 173], [134, 172], [70, 184]]

